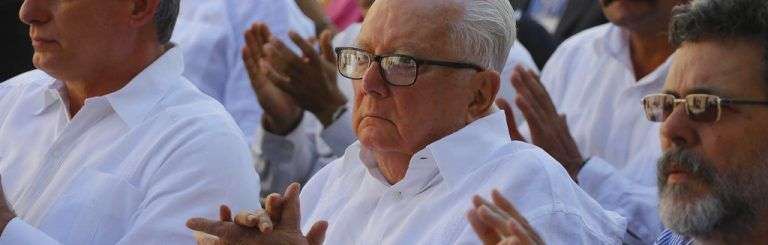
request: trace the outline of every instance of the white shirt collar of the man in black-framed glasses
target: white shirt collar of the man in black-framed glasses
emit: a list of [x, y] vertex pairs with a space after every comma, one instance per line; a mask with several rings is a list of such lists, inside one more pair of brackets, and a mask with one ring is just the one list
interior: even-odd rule
[[[405, 178], [392, 187], [401, 188], [404, 194], [415, 195], [440, 180], [448, 184], [460, 183], [482, 166], [496, 149], [510, 142], [504, 112], [495, 112], [416, 152], [411, 157]], [[368, 173], [386, 185], [372, 152], [360, 142], [350, 149], [359, 149], [359, 160]]]

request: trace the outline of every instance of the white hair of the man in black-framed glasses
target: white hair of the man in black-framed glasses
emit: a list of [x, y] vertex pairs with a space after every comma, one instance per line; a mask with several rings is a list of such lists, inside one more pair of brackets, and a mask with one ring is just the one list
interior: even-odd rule
[[451, 39], [462, 57], [501, 72], [517, 37], [512, 5], [507, 0], [463, 2], [464, 19], [451, 25]]

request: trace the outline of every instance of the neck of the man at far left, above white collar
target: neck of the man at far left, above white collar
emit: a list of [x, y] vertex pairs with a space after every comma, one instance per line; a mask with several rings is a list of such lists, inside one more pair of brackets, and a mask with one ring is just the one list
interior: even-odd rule
[[65, 80], [70, 117], [74, 117], [80, 111], [86, 99], [107, 95], [125, 87], [163, 52], [165, 48], [162, 46], [146, 45], [132, 50], [125, 59], [117, 59], [111, 64], [90, 69], [86, 76]]

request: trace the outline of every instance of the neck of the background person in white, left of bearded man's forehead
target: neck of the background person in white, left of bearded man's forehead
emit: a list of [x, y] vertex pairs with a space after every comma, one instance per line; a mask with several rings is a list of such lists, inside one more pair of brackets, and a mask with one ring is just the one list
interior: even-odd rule
[[664, 64], [674, 51], [665, 30], [630, 32], [629, 42], [632, 66], [637, 80]]

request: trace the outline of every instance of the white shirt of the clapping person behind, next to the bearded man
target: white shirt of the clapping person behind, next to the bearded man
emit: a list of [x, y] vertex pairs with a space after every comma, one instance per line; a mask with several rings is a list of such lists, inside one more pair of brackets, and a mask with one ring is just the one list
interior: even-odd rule
[[[582, 156], [591, 157], [578, 175], [581, 187], [627, 217], [643, 244], [661, 232], [655, 188], [661, 147], [659, 126], [645, 119], [640, 101], [661, 90], [669, 65], [635, 78], [628, 34], [609, 23], [565, 41], [542, 72]], [[527, 125], [520, 130], [529, 135]]]

